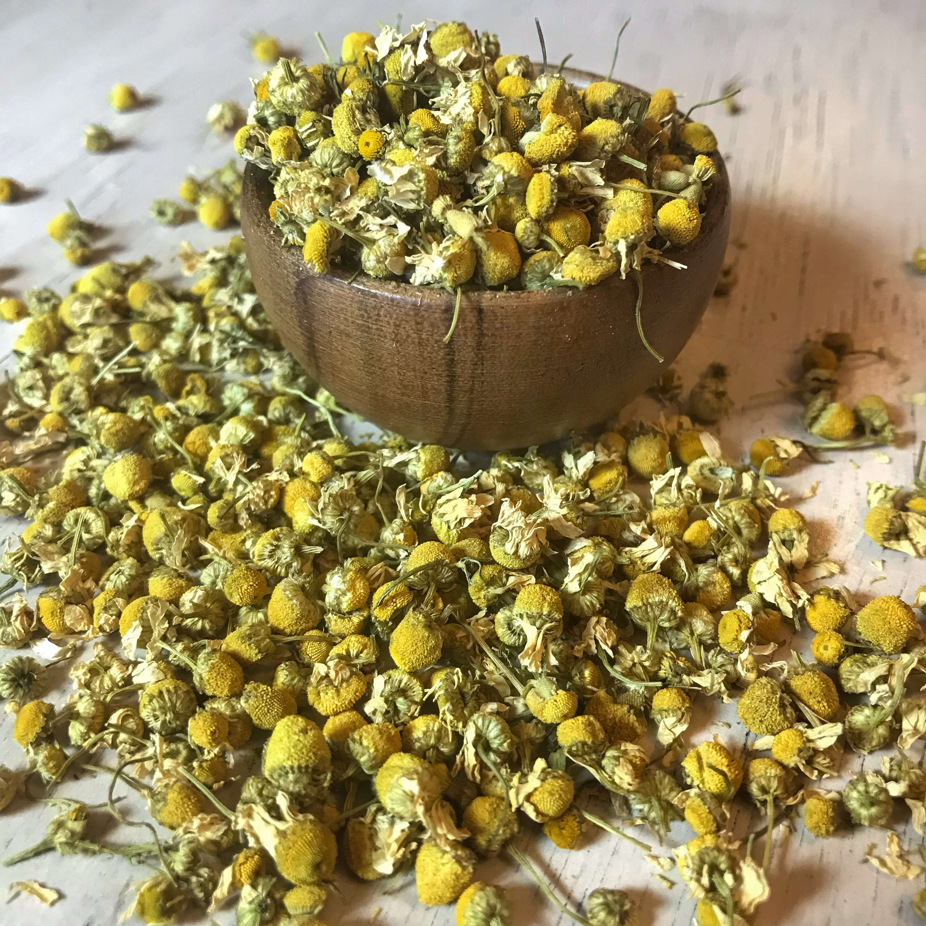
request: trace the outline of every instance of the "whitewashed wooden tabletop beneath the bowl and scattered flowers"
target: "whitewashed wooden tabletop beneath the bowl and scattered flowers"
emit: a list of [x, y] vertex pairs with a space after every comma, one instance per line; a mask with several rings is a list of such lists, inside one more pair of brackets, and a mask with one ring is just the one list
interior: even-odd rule
[[[845, 329], [861, 344], [888, 348], [891, 362], [849, 361], [846, 394], [876, 390], [894, 403], [904, 438], [890, 451], [891, 462], [875, 462], [870, 453], [845, 455], [828, 467], [803, 467], [782, 484], [799, 497], [822, 480], [820, 493], [802, 507], [820, 548], [845, 564], [839, 582], [862, 600], [886, 593], [909, 600], [926, 582], [926, 567], [879, 550], [864, 538], [861, 520], [865, 483], [907, 482], [914, 448], [926, 436], [926, 408], [901, 401], [902, 394], [926, 389], [926, 278], [904, 266], [912, 248], [926, 244], [926, 6], [909, 0], [402, 5], [407, 23], [438, 9], [443, 18], [497, 31], [503, 50], [529, 54], [535, 54], [532, 17], [539, 15], [552, 60], [571, 51], [578, 67], [599, 71], [607, 71], [619, 23], [631, 14], [618, 75], [645, 87], [673, 87], [686, 94], [684, 103], [716, 95], [723, 81], [742, 77], [743, 114], [733, 119], [716, 108], [705, 117], [729, 158], [732, 236], [746, 245], [736, 252], [740, 283], [729, 298], [714, 301], [679, 366], [690, 384], [707, 362], [730, 364], [738, 404], [722, 439], [739, 455], [760, 433], [801, 434], [796, 405], [747, 399], [796, 376], [805, 338]], [[66, 198], [106, 226], [108, 255], [150, 254], [165, 274], [176, 273], [181, 237], [203, 245], [220, 236], [192, 225], [163, 229], [148, 219], [147, 208], [156, 196], [174, 195], [187, 169], [210, 169], [230, 156], [230, 146], [212, 136], [204, 119], [219, 99], [248, 98], [246, 79], [260, 66], [248, 54], [245, 34], [277, 34], [315, 61], [314, 31], [336, 49], [345, 31], [376, 31], [376, 19], [391, 21], [395, 12], [357, 2], [5, 0], [0, 174], [36, 195], [0, 207], [0, 292], [35, 285], [64, 290], [76, 277], [44, 236], [45, 222]], [[134, 83], [152, 97], [150, 105], [127, 115], [109, 110], [106, 94], [116, 81]], [[81, 131], [93, 121], [127, 144], [112, 154], [86, 154]], [[5, 329], [0, 337], [6, 353], [12, 336]], [[641, 408], [653, 410], [646, 403]], [[887, 578], [871, 584], [880, 576], [871, 561], [881, 559]], [[690, 735], [696, 740], [718, 730], [710, 724], [722, 716], [697, 717]], [[0, 762], [15, 766], [21, 754], [11, 728], [11, 717], [0, 720]], [[742, 745], [733, 742], [735, 725], [725, 735]], [[10, 807], [0, 818], [0, 855], [40, 838], [48, 819], [23, 801]], [[119, 836], [133, 840], [137, 832]], [[677, 825], [672, 843], [689, 836]], [[895, 882], [859, 864], [865, 845], [877, 838], [863, 831], [814, 842], [798, 828], [777, 851], [773, 899], [755, 922], [917, 921], [909, 898], [921, 881]], [[904, 838], [920, 842], [912, 831]], [[639, 899], [643, 924], [691, 919], [693, 904], [679, 879], [674, 890], [663, 888], [633, 847], [594, 834], [577, 853], [546, 853], [539, 840], [533, 845], [534, 857], [544, 854], [544, 867], [575, 903], [596, 886], [620, 886]], [[114, 922], [129, 903], [128, 885], [145, 873], [119, 861], [55, 855], [4, 871], [9, 881], [36, 878], [65, 894], [41, 911], [47, 926]], [[503, 863], [482, 877], [511, 886], [519, 926], [569, 922], [541, 905], [537, 892]], [[333, 896], [325, 912], [332, 923], [453, 921], [448, 907], [418, 907], [411, 879], [387, 896], [346, 878], [340, 883], [344, 900]], [[0, 922], [38, 919], [35, 904], [19, 898], [0, 907]], [[232, 922], [233, 915], [224, 911], [217, 919]]]

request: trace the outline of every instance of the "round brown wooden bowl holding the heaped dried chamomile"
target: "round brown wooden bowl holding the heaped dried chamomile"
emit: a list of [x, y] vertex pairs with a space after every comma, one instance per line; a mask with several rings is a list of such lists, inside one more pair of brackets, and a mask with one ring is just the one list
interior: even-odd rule
[[[584, 86], [602, 80], [565, 69]], [[269, 218], [272, 189], [247, 165], [242, 227], [261, 302], [282, 343], [346, 407], [413, 441], [468, 450], [543, 444], [615, 414], [656, 382], [704, 314], [730, 231], [730, 182], [719, 155], [701, 232], [673, 260], [644, 268], [641, 344], [636, 282], [618, 274], [585, 290], [454, 296], [332, 269], [313, 276]]]

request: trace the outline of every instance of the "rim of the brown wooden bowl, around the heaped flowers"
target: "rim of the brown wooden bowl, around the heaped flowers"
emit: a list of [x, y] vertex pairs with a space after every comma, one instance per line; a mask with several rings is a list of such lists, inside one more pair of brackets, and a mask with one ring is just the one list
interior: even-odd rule
[[[532, 64], [534, 67], [541, 67], [541, 65], [539, 65], [537, 62], [532, 62]], [[590, 83], [594, 83], [596, 81], [607, 81], [607, 78], [601, 74], [596, 74], [594, 71], [583, 70], [579, 68], [563, 68], [557, 71], [557, 73], [567, 77], [570, 82], [579, 85], [582, 89], [587, 87]], [[630, 87], [632, 90], [635, 90], [638, 93], [648, 93], [647, 91], [642, 90], [640, 87], [637, 87], [635, 84], [629, 83], [627, 81], [613, 82], [619, 83], [625, 87]], [[691, 122], [693, 120], [686, 119], [686, 121]], [[726, 162], [724, 161], [723, 156], [720, 155], [720, 150], [711, 153], [710, 158], [717, 165], [717, 173], [715, 174], [714, 180], [711, 183], [711, 194], [707, 197], [707, 206], [705, 208], [704, 214], [701, 217], [701, 230], [697, 237], [694, 238], [694, 241], [690, 242], [689, 244], [683, 244], [681, 247], [673, 248], [673, 250], [669, 252], [673, 260], [676, 257], [681, 257], [685, 254], [692, 254], [694, 251], [698, 250], [698, 246], [703, 244], [706, 240], [707, 232], [711, 232], [713, 228], [720, 223], [727, 208], [729, 208], [731, 189], [730, 176], [727, 172]], [[264, 205], [264, 208], [260, 210], [261, 225], [269, 230], [272, 230], [273, 237], [277, 240], [277, 244], [279, 244], [280, 249], [284, 255], [286, 255], [286, 252], [288, 251], [292, 251], [293, 255], [300, 254], [299, 248], [294, 247], [293, 245], [286, 245], [282, 243], [282, 234], [280, 230], [277, 228], [276, 224], [269, 219], [267, 208], [273, 199], [273, 188], [270, 183], [269, 174], [267, 171], [258, 168], [255, 164], [246, 164], [244, 169], [244, 182], [248, 181], [254, 182], [257, 198]], [[679, 263], [683, 263], [683, 261], [679, 260]], [[301, 256], [299, 259], [299, 267], [300, 269], [303, 267]], [[667, 271], [678, 272], [676, 268], [670, 267], [668, 264], [662, 262], [647, 262], [644, 264], [642, 270], [645, 275], [660, 271], [663, 273]], [[433, 305], [434, 307], [445, 307], [448, 296], [453, 295], [450, 293], [450, 291], [444, 289], [443, 287], [431, 285], [415, 285], [413, 283], [405, 282], [404, 280], [379, 280], [376, 277], [371, 277], [369, 274], [364, 273], [363, 270], [353, 270], [348, 272], [347, 270], [333, 267], [329, 269], [327, 273], [318, 275], [313, 274], [313, 277], [319, 281], [328, 280], [332, 284], [351, 287], [352, 289], [369, 293], [371, 296], [410, 300], [418, 302], [419, 305], [424, 305], [427, 303]], [[583, 288], [563, 286], [562, 294], [564, 297], [569, 297], [586, 292], [602, 293], [609, 287], [621, 284], [632, 285], [633, 281], [630, 277], [627, 279], [621, 279], [619, 273], [612, 273], [611, 276], [607, 277], [607, 279], [600, 283], [596, 283], [594, 286], [587, 286]], [[494, 300], [504, 301], [507, 304], [518, 304], [530, 307], [532, 303], [536, 303], [538, 305], [545, 304], [549, 298], [549, 293], [549, 289], [464, 289], [462, 298], [465, 300], [468, 296], [470, 298], [473, 296], [478, 296], [483, 300], [492, 298]]]

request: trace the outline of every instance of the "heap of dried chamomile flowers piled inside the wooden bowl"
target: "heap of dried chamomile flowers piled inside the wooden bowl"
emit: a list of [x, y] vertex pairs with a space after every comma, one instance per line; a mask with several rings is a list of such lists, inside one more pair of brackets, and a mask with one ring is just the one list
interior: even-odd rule
[[580, 89], [462, 22], [351, 32], [340, 64], [281, 58], [254, 91], [235, 148], [318, 273], [541, 289], [682, 267], [662, 252], [697, 236], [717, 172], [670, 90]]

